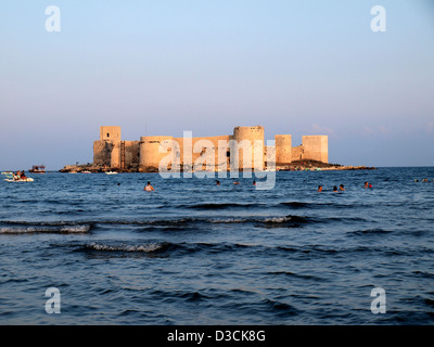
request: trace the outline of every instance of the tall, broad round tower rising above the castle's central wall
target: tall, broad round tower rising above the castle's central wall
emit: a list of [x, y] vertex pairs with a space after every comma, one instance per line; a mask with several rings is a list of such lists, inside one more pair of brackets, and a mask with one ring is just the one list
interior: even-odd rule
[[[237, 155], [239, 158], [239, 169], [255, 168], [255, 155], [260, 155], [260, 164], [257, 169], [264, 167], [264, 128], [261, 126], [254, 127], [237, 127], [233, 129], [232, 140], [237, 141], [235, 146], [231, 146], [230, 155]], [[255, 145], [260, 144], [260, 152], [255, 151]], [[246, 157], [245, 157], [246, 156]], [[244, 160], [245, 157], [245, 160]], [[250, 159], [252, 158], [252, 159]], [[246, 163], [244, 163], [246, 162]]]

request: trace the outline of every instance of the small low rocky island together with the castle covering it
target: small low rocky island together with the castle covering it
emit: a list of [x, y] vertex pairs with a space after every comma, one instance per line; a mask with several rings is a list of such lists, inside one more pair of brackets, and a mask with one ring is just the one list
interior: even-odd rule
[[[100, 127], [100, 139], [93, 142], [93, 163], [67, 165], [60, 171], [158, 172], [162, 160], [176, 163], [179, 170], [184, 171], [191, 170], [193, 163], [205, 156], [203, 170], [208, 169], [206, 164], [209, 165], [210, 160], [214, 164], [213, 170], [218, 172], [231, 170], [231, 163], [237, 159], [240, 171], [374, 169], [329, 164], [328, 136], [303, 136], [303, 143], [292, 146], [291, 134], [277, 134], [272, 145], [268, 144], [264, 140], [261, 126], [235, 127], [229, 136], [193, 138], [191, 132], [184, 132], [183, 138], [153, 136], [141, 137], [140, 141], [122, 140], [120, 127]], [[165, 150], [162, 151], [162, 146]], [[260, 151], [259, 159], [257, 151]], [[276, 160], [276, 165], [271, 164], [272, 160]]]

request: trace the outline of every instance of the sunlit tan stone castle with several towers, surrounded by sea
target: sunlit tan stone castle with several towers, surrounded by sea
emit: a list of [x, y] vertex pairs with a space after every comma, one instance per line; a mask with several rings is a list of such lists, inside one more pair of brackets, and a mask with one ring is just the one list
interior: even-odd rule
[[[191, 134], [191, 133], [190, 133]], [[187, 141], [186, 141], [187, 140]], [[234, 141], [233, 141], [234, 140]], [[168, 147], [162, 151], [162, 145], [173, 143], [176, 149]], [[187, 143], [187, 144], [186, 144]], [[233, 143], [242, 143], [243, 147], [247, 144], [247, 151], [254, 151], [260, 145], [260, 166], [267, 168], [267, 153], [271, 149], [265, 145], [264, 128], [235, 127], [232, 134], [206, 137], [206, 138], [174, 138], [169, 136], [141, 137], [140, 141], [124, 141], [120, 137], [120, 127], [100, 127], [100, 140], [93, 143], [93, 165], [94, 169], [118, 170], [132, 172], [156, 172], [158, 165], [163, 159], [169, 159], [180, 164], [180, 168], [196, 163], [205, 153], [210, 154], [216, 170], [220, 167], [229, 167], [231, 157], [234, 155]], [[292, 146], [291, 134], [275, 136], [276, 146], [272, 147], [276, 153], [276, 167], [284, 167], [296, 160], [317, 160], [329, 162], [329, 144], [327, 136], [304, 136], [303, 144]], [[186, 146], [191, 146], [186, 151]], [[238, 149], [235, 149], [238, 150]], [[237, 151], [238, 152], [238, 151]], [[254, 169], [257, 165], [252, 159], [252, 152], [239, 151], [237, 153], [240, 169]], [[245, 159], [247, 158], [247, 160]], [[169, 162], [170, 162], [169, 160]], [[205, 163], [204, 163], [205, 165]]]

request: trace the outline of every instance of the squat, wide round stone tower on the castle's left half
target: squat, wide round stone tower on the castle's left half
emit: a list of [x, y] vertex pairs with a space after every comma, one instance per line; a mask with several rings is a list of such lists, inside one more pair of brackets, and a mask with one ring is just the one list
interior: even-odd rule
[[139, 171], [158, 171], [159, 162], [169, 153], [159, 153], [159, 144], [171, 141], [174, 137], [141, 137]]

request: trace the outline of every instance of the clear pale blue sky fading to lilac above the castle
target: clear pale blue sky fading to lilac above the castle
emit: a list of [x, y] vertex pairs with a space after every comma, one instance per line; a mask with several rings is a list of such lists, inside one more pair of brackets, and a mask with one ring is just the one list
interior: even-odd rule
[[2, 0], [0, 47], [1, 170], [91, 163], [100, 126], [260, 125], [329, 136], [330, 163], [434, 166], [433, 0]]

